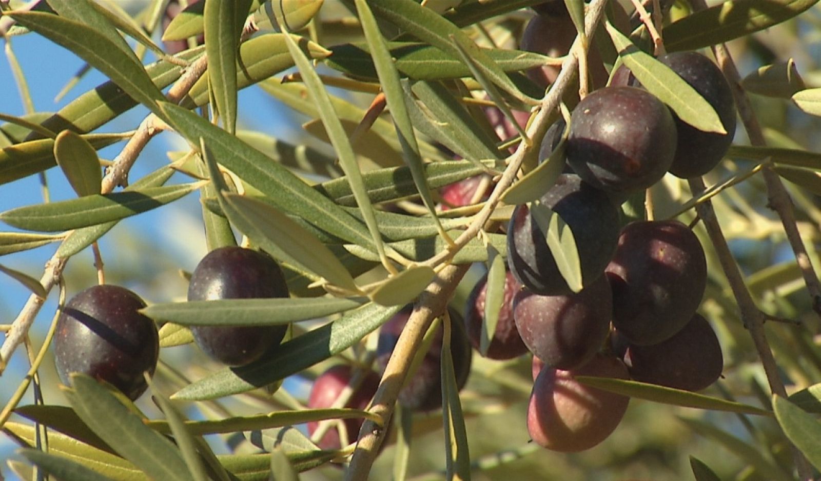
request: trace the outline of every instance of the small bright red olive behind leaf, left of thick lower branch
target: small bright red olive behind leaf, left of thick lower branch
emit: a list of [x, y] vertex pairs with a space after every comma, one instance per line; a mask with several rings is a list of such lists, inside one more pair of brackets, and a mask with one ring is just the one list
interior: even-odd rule
[[[348, 364], [337, 364], [319, 374], [310, 389], [308, 407], [310, 409], [331, 407], [337, 401], [337, 397], [339, 397], [342, 390], [351, 383], [353, 374], [354, 370]], [[370, 400], [374, 398], [376, 389], [379, 387], [379, 377], [373, 371], [368, 371], [364, 376], [343, 407], [364, 410]], [[345, 423], [348, 442], [355, 441], [362, 427], [363, 419], [345, 419], [343, 422]], [[317, 428], [319, 428], [319, 422], [312, 421], [308, 423], [308, 433], [310, 435], [313, 435]], [[317, 446], [327, 450], [342, 447], [337, 428], [329, 428], [328, 432], [317, 442]]]

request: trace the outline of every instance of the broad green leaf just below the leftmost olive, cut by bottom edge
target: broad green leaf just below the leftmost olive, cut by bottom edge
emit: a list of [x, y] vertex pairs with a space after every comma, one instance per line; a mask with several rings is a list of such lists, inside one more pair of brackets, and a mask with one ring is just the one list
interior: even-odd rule
[[145, 426], [106, 387], [85, 374], [71, 374], [74, 389], [65, 394], [80, 419], [120, 456], [154, 479], [186, 481], [180, 451], [166, 437]]

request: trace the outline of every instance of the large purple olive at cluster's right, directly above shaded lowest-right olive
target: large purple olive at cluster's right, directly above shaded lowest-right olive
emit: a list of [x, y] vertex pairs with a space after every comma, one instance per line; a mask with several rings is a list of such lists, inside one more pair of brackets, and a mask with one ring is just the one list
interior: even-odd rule
[[678, 221], [628, 224], [606, 272], [613, 291], [613, 326], [639, 346], [679, 332], [701, 304], [707, 285], [704, 249]]

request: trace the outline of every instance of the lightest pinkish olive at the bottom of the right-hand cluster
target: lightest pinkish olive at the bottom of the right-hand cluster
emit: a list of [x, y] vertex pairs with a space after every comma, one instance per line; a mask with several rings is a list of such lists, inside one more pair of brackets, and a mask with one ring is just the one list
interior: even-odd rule
[[603, 355], [572, 371], [542, 369], [527, 408], [527, 430], [539, 446], [585, 451], [610, 436], [624, 417], [629, 397], [586, 387], [576, 381], [577, 375], [628, 378], [621, 360]]

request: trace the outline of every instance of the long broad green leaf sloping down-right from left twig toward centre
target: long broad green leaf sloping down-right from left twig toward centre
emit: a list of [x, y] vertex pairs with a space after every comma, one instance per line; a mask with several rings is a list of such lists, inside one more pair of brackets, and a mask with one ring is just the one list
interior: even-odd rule
[[215, 160], [242, 180], [277, 202], [285, 213], [293, 213], [342, 239], [371, 246], [373, 240], [362, 224], [337, 204], [319, 194], [299, 177], [234, 135], [184, 108], [163, 103], [175, 130], [198, 149], [206, 139]]

